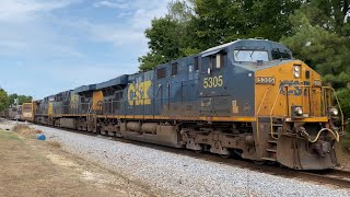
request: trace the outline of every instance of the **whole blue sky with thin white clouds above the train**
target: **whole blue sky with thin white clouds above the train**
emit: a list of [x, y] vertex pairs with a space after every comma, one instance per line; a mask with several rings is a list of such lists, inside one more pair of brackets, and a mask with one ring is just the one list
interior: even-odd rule
[[0, 86], [45, 96], [138, 71], [170, 0], [0, 0]]

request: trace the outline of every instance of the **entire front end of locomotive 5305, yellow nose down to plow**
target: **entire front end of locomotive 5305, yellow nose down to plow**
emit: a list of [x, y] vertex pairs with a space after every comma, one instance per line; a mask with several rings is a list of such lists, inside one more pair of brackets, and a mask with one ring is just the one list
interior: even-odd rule
[[332, 90], [322, 86], [320, 76], [291, 60], [265, 67], [255, 78], [257, 127], [267, 150], [262, 159], [303, 170], [337, 165], [341, 129], [331, 117], [341, 111], [331, 105]]

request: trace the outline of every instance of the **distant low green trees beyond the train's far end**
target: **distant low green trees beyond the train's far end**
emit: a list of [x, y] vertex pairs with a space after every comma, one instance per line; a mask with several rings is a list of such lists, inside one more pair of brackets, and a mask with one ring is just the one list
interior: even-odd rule
[[8, 92], [0, 88], [0, 112], [7, 109], [9, 106], [14, 104], [14, 100], [19, 100], [19, 105], [23, 103], [30, 103], [33, 101], [32, 96], [19, 95], [19, 94], [8, 94]]

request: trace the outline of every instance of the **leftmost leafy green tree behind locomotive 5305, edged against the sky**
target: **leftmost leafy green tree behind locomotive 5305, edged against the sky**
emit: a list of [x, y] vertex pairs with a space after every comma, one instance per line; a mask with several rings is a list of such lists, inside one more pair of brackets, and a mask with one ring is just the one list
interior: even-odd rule
[[168, 4], [165, 16], [152, 20], [152, 26], [144, 32], [150, 51], [139, 58], [141, 71], [186, 55], [188, 50], [184, 42], [190, 15], [187, 1], [177, 0]]

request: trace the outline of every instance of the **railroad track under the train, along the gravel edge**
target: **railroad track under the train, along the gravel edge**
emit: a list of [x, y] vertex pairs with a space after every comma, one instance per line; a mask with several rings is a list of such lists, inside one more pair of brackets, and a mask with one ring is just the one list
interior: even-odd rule
[[[38, 125], [38, 126], [48, 127], [48, 126], [43, 126], [43, 125]], [[50, 127], [50, 128], [56, 128], [56, 127]], [[232, 165], [232, 166], [247, 169], [250, 171], [268, 173], [271, 175], [278, 175], [278, 176], [288, 177], [288, 178], [298, 178], [301, 181], [308, 181], [308, 182], [312, 181], [314, 183], [334, 185], [334, 186], [338, 186], [341, 188], [350, 188], [350, 171], [342, 171], [342, 170], [338, 170], [338, 169], [323, 170], [323, 171], [295, 171], [295, 170], [291, 170], [291, 169], [281, 167], [277, 164], [259, 165], [259, 164], [256, 164], [252, 161], [243, 160], [238, 157], [236, 157], [236, 158], [233, 157], [233, 159], [225, 159], [225, 158], [221, 158], [220, 155], [207, 153], [207, 152], [197, 153], [191, 150], [175, 149], [175, 148], [163, 147], [163, 146], [159, 146], [159, 144], [128, 140], [128, 139], [124, 139], [124, 138], [102, 136], [98, 134], [93, 134], [93, 132], [88, 132], [88, 131], [79, 131], [79, 130], [66, 129], [66, 128], [56, 128], [56, 129], [81, 134], [81, 135], [100, 137], [100, 138], [103, 138], [106, 140], [114, 140], [114, 141], [119, 141], [119, 142], [125, 142], [125, 143], [131, 143], [131, 144], [136, 144], [136, 146], [140, 146], [140, 147], [152, 148], [152, 149], [166, 151], [166, 152], [171, 152], [171, 153], [175, 153], [175, 154], [187, 155], [187, 157], [191, 157], [191, 158], [196, 158], [196, 159], [200, 159], [200, 160], [205, 160], [205, 161], [211, 161], [211, 162], [217, 162], [217, 163], [221, 163], [221, 164], [225, 164], [225, 165]]]

